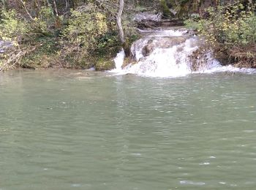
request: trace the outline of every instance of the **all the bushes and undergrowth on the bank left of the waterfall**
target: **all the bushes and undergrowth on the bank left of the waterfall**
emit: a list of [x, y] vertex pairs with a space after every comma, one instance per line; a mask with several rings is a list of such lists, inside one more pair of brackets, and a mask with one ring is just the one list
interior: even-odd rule
[[[13, 66], [113, 69], [111, 59], [122, 47], [116, 1], [7, 0], [0, 4], [0, 41], [8, 44], [4, 50], [0, 46], [0, 70]], [[138, 34], [129, 15], [121, 16], [129, 46]]]

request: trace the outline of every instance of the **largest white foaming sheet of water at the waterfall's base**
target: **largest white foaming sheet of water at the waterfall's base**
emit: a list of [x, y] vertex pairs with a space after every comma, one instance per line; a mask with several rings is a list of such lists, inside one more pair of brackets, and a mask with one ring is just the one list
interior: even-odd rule
[[[197, 47], [189, 46], [190, 39], [181, 45], [154, 50], [149, 56], [139, 58], [138, 64], [124, 68], [126, 73], [148, 77], [182, 77], [189, 74], [187, 56]], [[179, 48], [183, 50], [180, 51]], [[138, 53], [139, 54], [139, 53]]]

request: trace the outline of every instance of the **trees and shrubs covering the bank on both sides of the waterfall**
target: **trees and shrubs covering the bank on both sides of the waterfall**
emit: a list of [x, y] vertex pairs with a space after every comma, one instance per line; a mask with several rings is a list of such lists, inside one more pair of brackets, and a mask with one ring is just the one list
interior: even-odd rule
[[129, 50], [140, 37], [132, 18], [141, 11], [185, 20], [222, 63], [256, 67], [251, 0], [126, 0], [124, 12], [122, 1], [1, 0], [0, 70], [15, 66], [112, 69], [111, 60], [121, 47]]

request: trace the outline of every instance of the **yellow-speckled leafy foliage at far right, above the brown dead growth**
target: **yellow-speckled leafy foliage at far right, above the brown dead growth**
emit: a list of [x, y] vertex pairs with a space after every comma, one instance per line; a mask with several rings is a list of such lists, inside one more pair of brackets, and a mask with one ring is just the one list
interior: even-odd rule
[[243, 4], [209, 8], [209, 18], [203, 21], [202, 34], [213, 45], [216, 42], [233, 45], [255, 43], [256, 15], [252, 9], [244, 9]]

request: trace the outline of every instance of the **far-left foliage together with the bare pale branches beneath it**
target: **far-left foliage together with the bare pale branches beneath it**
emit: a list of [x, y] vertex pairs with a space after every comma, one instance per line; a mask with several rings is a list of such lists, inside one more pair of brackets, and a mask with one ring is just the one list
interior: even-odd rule
[[12, 43], [12, 47], [0, 54], [1, 64], [36, 67], [34, 63], [40, 65], [48, 53], [53, 54], [58, 49], [56, 19], [50, 7], [40, 7], [34, 20], [27, 20], [15, 9], [1, 9], [0, 18], [0, 40]]

